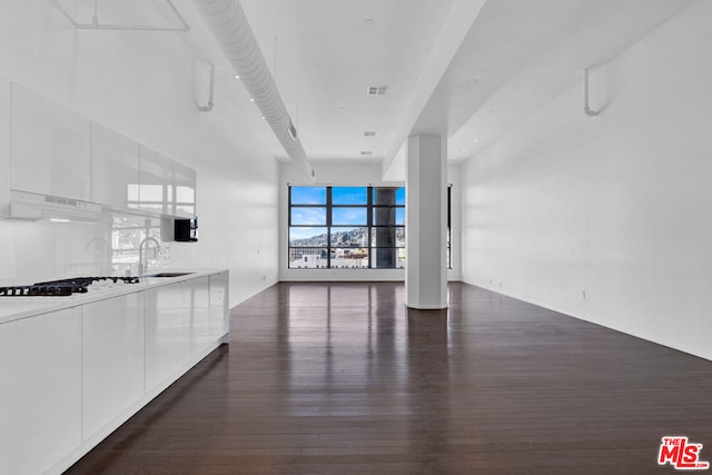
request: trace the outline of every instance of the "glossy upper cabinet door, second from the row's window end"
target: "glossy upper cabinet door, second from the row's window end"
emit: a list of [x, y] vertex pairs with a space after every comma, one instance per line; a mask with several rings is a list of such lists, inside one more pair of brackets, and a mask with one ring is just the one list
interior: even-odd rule
[[139, 147], [138, 208], [172, 215], [172, 160], [148, 147]]

